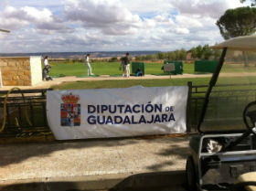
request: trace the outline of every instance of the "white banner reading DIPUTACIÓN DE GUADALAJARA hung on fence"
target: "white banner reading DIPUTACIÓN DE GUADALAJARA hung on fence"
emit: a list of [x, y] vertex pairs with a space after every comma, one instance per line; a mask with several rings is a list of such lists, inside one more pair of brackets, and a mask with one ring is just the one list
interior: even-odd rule
[[186, 132], [187, 87], [48, 90], [58, 140]]

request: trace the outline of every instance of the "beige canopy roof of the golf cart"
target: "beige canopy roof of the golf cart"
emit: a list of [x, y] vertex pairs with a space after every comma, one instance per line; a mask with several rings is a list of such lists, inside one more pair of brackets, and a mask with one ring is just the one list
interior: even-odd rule
[[210, 48], [256, 51], [256, 35], [234, 37]]

